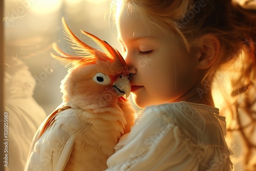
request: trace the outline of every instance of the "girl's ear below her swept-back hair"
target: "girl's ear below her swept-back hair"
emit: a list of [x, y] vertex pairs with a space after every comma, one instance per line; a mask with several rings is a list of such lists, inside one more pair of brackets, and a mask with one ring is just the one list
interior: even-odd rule
[[205, 34], [198, 40], [201, 41], [198, 53], [196, 54], [198, 69], [207, 69], [219, 56], [220, 40], [212, 34]]

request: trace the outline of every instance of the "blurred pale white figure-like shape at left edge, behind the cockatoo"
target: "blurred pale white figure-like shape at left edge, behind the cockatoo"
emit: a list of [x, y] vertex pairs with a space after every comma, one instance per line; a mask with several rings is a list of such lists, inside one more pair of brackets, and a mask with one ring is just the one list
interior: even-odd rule
[[33, 98], [35, 79], [16, 57], [5, 63], [5, 111], [8, 112], [8, 168], [23, 170], [33, 136], [46, 118]]

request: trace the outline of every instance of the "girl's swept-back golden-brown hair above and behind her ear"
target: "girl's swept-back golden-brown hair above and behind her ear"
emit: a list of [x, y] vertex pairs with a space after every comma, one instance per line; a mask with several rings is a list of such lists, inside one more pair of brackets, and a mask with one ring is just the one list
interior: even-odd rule
[[116, 9], [124, 7], [130, 12], [138, 12], [163, 31], [178, 33], [191, 54], [202, 44], [198, 41], [200, 36], [208, 33], [217, 36], [221, 44], [220, 55], [203, 79], [209, 83], [219, 66], [239, 56], [249, 40], [241, 30], [245, 26], [234, 18], [231, 1], [114, 0], [112, 16], [115, 18]]

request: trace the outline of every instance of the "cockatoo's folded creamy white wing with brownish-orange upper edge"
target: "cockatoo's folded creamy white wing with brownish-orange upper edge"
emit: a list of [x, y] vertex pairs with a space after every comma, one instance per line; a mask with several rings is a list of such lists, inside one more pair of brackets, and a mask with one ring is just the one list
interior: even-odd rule
[[63, 170], [72, 152], [77, 118], [67, 107], [54, 111], [34, 136], [25, 170]]

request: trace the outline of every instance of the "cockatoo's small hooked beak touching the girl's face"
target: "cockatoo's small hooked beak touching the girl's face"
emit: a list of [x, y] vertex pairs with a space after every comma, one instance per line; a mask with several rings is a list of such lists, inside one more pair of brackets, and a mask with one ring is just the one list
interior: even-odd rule
[[116, 82], [114, 82], [113, 87], [117, 92], [118, 97], [125, 95], [125, 98], [127, 98], [131, 93], [131, 84], [126, 76], [118, 78]]

